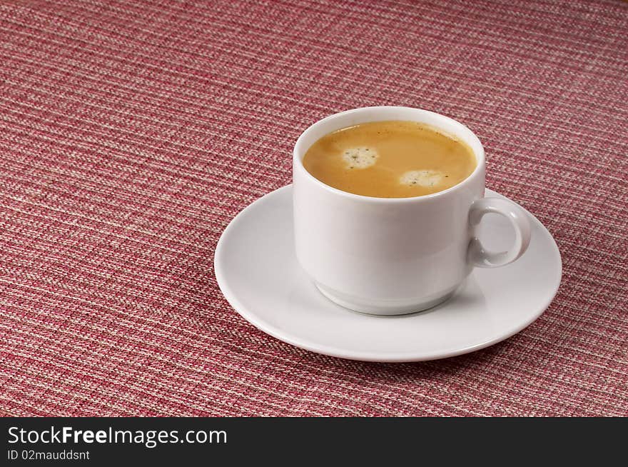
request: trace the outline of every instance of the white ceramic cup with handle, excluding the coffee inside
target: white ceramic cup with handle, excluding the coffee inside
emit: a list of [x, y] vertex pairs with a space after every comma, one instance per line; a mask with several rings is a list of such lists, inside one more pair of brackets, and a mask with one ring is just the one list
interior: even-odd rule
[[[417, 121], [465, 142], [477, 166], [450, 189], [413, 198], [373, 198], [334, 189], [315, 179], [303, 157], [333, 131], [372, 121]], [[474, 267], [505, 266], [530, 243], [530, 223], [517, 205], [485, 198], [484, 148], [470, 129], [434, 112], [365, 107], [340, 112], [303, 131], [293, 157], [296, 256], [318, 290], [354, 311], [413, 313], [445, 301]], [[512, 247], [486, 251], [476, 237], [482, 216], [505, 216]]]

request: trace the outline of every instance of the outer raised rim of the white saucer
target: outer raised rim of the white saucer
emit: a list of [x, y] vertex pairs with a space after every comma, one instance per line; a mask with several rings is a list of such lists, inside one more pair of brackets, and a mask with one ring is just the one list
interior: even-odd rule
[[[508, 330], [507, 332], [500, 333], [500, 335], [495, 338], [488, 339], [487, 341], [483, 341], [483, 342], [474, 344], [472, 346], [465, 346], [462, 348], [452, 348], [450, 350], [445, 350], [445, 351], [442, 350], [441, 348], [440, 350], [432, 351], [431, 353], [430, 352], [426, 353], [425, 351], [423, 351], [420, 356], [417, 356], [416, 353], [412, 353], [412, 352], [383, 354], [381, 351], [373, 352], [373, 353], [364, 352], [364, 351], [350, 351], [343, 348], [320, 345], [315, 342], [309, 342], [309, 341], [304, 342], [303, 340], [299, 340], [298, 338], [293, 338], [292, 336], [290, 336], [290, 334], [283, 333], [280, 329], [275, 328], [275, 326], [265, 323], [263, 319], [258, 319], [256, 313], [248, 311], [247, 307], [245, 307], [243, 303], [241, 303], [238, 300], [237, 294], [234, 293], [231, 287], [228, 285], [228, 280], [226, 279], [223, 273], [223, 269], [221, 267], [221, 261], [222, 261], [221, 258], [224, 254], [223, 247], [226, 242], [225, 238], [228, 237], [230, 232], [234, 229], [237, 229], [238, 224], [240, 224], [240, 222], [242, 222], [243, 219], [245, 219], [245, 217], [248, 215], [250, 211], [252, 211], [255, 208], [260, 207], [259, 205], [255, 206], [256, 204], [266, 202], [268, 201], [269, 198], [273, 196], [280, 196], [280, 194], [283, 191], [291, 191], [291, 190], [292, 190], [292, 184], [288, 184], [286, 186], [280, 187], [279, 189], [270, 191], [270, 193], [267, 193], [261, 196], [260, 198], [256, 199], [255, 201], [250, 203], [248, 206], [246, 206], [242, 211], [240, 211], [231, 220], [231, 222], [229, 222], [229, 224], [226, 226], [225, 230], [221, 234], [221, 238], [218, 239], [218, 244], [216, 245], [216, 251], [214, 252], [214, 261], [213, 261], [214, 268], [213, 269], [214, 269], [214, 275], [216, 276], [216, 282], [218, 283], [218, 287], [221, 289], [223, 296], [226, 298], [226, 300], [231, 305], [231, 307], [236, 311], [236, 313], [242, 316], [245, 319], [245, 321], [248, 321], [249, 323], [253, 324], [255, 328], [258, 328], [263, 333], [266, 333], [269, 336], [273, 336], [274, 338], [282, 342], [289, 343], [290, 345], [293, 345], [295, 347], [302, 348], [304, 350], [312, 351], [315, 353], [320, 353], [326, 356], [345, 358], [348, 360], [355, 360], [355, 361], [370, 361], [370, 362], [379, 362], [379, 363], [407, 363], [407, 362], [415, 362], [415, 361], [431, 361], [431, 360], [438, 360], [440, 358], [450, 358], [454, 356], [460, 356], [460, 355], [464, 355], [465, 353], [472, 353], [472, 352], [481, 350], [482, 348], [487, 348], [492, 345], [495, 345], [496, 343], [505, 341], [507, 338], [514, 336], [515, 334], [519, 333], [523, 329], [527, 328], [527, 326], [530, 326], [530, 324], [536, 321], [543, 313], [545, 313], [547, 308], [549, 308], [550, 304], [552, 303], [552, 301], [554, 301], [554, 298], [559, 291], [560, 284], [562, 283], [562, 256], [560, 254], [560, 250], [557, 246], [557, 243], [554, 240], [554, 237], [552, 236], [552, 234], [550, 234], [550, 231], [547, 230], [547, 228], [541, 223], [541, 221], [539, 221], [539, 219], [537, 219], [533, 214], [531, 214], [530, 211], [527, 211], [527, 209], [525, 209], [523, 206], [520, 206], [520, 204], [517, 204], [515, 201], [508, 199], [506, 196], [503, 196], [502, 194], [497, 193], [497, 191], [493, 191], [491, 189], [485, 189], [486, 197], [497, 196], [502, 199], [507, 199], [508, 201], [511, 201], [512, 203], [517, 204], [517, 206], [519, 206], [523, 211], [525, 211], [525, 213], [531, 218], [530, 221], [536, 222], [536, 224], [540, 226], [542, 231], [545, 231], [546, 236], [549, 237], [551, 240], [554, 252], [557, 253], [557, 266], [558, 267], [557, 267], [556, 281], [554, 284], [551, 284], [554, 291], [551, 294], [550, 298], [547, 300], [547, 303], [544, 303], [542, 306], [540, 306], [539, 311], [537, 311], [536, 313], [533, 313], [529, 319], [522, 321], [522, 323], [519, 323], [517, 326], [514, 326], [512, 329]], [[549, 287], [550, 286], [548, 285], [548, 288]], [[357, 313], [357, 312], [353, 312], [353, 313]], [[364, 315], [364, 316], [370, 316], [370, 315]], [[412, 314], [407, 315], [407, 316], [412, 316]], [[371, 316], [371, 317], [375, 319], [391, 318], [390, 316]], [[393, 318], [398, 318], [398, 316], [393, 316]]]

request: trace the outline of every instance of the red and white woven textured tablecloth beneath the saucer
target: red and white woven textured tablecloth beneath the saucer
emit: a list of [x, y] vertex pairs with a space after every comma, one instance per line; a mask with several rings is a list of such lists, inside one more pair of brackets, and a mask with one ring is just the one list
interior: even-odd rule
[[[0, 0], [0, 412], [627, 416], [627, 76], [619, 1]], [[221, 295], [216, 242], [298, 134], [381, 104], [470, 126], [556, 238], [522, 333], [360, 363]]]

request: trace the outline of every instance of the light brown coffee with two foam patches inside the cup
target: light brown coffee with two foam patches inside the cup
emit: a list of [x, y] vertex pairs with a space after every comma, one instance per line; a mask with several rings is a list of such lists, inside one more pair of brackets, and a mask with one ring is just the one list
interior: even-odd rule
[[472, 149], [415, 121], [374, 121], [316, 141], [305, 169], [335, 189], [377, 198], [410, 198], [446, 190], [475, 170]]

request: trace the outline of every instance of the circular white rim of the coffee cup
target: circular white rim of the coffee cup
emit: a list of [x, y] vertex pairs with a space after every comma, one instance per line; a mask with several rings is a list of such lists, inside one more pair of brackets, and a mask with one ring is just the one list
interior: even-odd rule
[[[475, 166], [475, 169], [471, 172], [471, 174], [469, 174], [469, 176], [467, 176], [466, 179], [460, 181], [460, 183], [455, 184], [454, 186], [451, 186], [448, 189], [442, 190], [442, 191], [437, 191], [436, 193], [432, 193], [432, 194], [427, 194], [427, 195], [420, 195], [420, 196], [410, 196], [407, 198], [379, 198], [377, 196], [365, 196], [365, 195], [360, 195], [360, 194], [355, 194], [355, 193], [349, 193], [348, 191], [343, 191], [337, 188], [334, 188], [333, 186], [330, 186], [328, 184], [325, 184], [323, 181], [320, 181], [319, 179], [317, 179], [315, 176], [313, 176], [312, 174], [310, 174], [310, 172], [308, 172], [305, 169], [305, 166], [303, 166], [303, 157], [300, 156], [300, 154], [303, 153], [303, 156], [305, 156], [305, 151], [307, 151], [307, 149], [305, 151], [302, 151], [300, 146], [303, 146], [303, 140], [305, 139], [306, 136], [308, 136], [308, 134], [313, 131], [313, 129], [315, 129], [316, 126], [320, 126], [320, 124], [323, 124], [327, 121], [330, 120], [334, 120], [334, 119], [338, 119], [342, 116], [348, 115], [348, 114], [355, 114], [355, 113], [360, 113], [363, 111], [373, 111], [373, 110], [383, 110], [383, 109], [388, 109], [388, 110], [412, 110], [412, 111], [419, 111], [422, 114], [428, 114], [431, 116], [437, 116], [440, 119], [446, 119], [447, 121], [450, 121], [451, 124], [453, 124], [454, 126], [457, 126], [457, 128], [460, 131], [466, 132], [468, 134], [468, 136], [470, 136], [470, 139], [472, 139], [472, 141], [474, 141], [475, 143], [477, 143], [477, 147], [480, 149], [480, 151], [475, 151], [475, 149], [473, 150], [473, 154], [475, 155], [476, 159], [477, 159], [477, 166]], [[390, 120], [390, 119], [387, 119]], [[378, 119], [373, 119], [370, 121], [379, 121]], [[309, 148], [308, 148], [309, 149]], [[420, 201], [428, 201], [431, 199], [435, 199], [435, 198], [440, 198], [442, 196], [447, 196], [447, 194], [452, 193], [452, 191], [456, 191], [459, 189], [462, 189], [462, 186], [465, 186], [467, 184], [470, 183], [470, 181], [472, 179], [475, 178], [475, 176], [477, 176], [477, 174], [480, 173], [480, 171], [484, 171], [485, 170], [485, 152], [484, 152], [484, 146], [482, 146], [482, 142], [480, 141], [480, 139], [476, 136], [475, 133], [473, 133], [473, 131], [471, 131], [467, 126], [465, 126], [464, 124], [461, 124], [460, 121], [457, 121], [455, 119], [452, 119], [449, 116], [443, 115], [443, 114], [438, 114], [437, 112], [433, 112], [433, 111], [429, 111], [429, 110], [425, 110], [425, 109], [418, 109], [416, 107], [405, 107], [405, 106], [370, 106], [370, 107], [359, 107], [357, 109], [350, 109], [350, 110], [345, 110], [342, 112], [338, 112], [336, 114], [331, 114], [326, 116], [323, 119], [320, 119], [318, 121], [315, 121], [315, 123], [311, 124], [310, 126], [308, 126], [308, 128], [306, 128], [303, 133], [300, 134], [300, 136], [298, 137], [297, 141], [295, 142], [295, 146], [293, 149], [293, 166], [296, 168], [298, 167], [301, 171], [303, 171], [303, 173], [305, 174], [305, 176], [310, 179], [310, 181], [314, 181], [315, 184], [318, 184], [319, 186], [321, 186], [323, 189], [325, 189], [326, 191], [330, 191], [330, 193], [336, 194], [336, 195], [340, 195], [340, 196], [344, 196], [345, 198], [348, 199], [354, 199], [354, 200], [362, 200], [362, 201], [373, 201], [376, 203], [389, 203], [389, 204], [397, 204], [397, 203], [410, 203], [410, 202], [420, 202]]]

